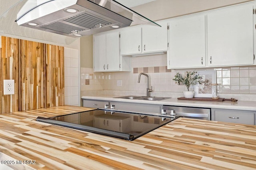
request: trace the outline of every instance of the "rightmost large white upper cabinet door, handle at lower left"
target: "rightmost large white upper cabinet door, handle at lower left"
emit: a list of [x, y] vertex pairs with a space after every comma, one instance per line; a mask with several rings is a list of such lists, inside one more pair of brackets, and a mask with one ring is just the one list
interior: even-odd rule
[[253, 6], [207, 14], [208, 66], [253, 64]]

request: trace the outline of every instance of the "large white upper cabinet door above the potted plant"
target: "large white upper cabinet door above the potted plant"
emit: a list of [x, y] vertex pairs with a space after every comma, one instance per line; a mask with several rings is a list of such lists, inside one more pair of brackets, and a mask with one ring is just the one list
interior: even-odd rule
[[188, 16], [169, 22], [168, 68], [205, 66], [205, 16]]

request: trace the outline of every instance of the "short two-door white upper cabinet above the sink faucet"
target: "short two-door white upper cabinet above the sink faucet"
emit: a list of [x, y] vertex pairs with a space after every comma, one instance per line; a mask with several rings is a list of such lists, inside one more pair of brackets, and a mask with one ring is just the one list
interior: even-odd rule
[[168, 22], [144, 25], [120, 31], [121, 55], [154, 53], [168, 50]]

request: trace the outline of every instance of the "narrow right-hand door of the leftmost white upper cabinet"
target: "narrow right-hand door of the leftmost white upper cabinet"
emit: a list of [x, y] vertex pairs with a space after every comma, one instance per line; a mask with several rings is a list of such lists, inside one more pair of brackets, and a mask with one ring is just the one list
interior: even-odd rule
[[106, 34], [106, 70], [119, 70], [119, 32]]

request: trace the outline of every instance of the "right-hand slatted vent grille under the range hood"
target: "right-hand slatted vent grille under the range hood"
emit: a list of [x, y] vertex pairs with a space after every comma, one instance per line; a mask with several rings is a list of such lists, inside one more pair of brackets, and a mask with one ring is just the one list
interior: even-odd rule
[[81, 27], [86, 27], [88, 29], [96, 28], [96, 25], [100, 25], [100, 24], [103, 27], [106, 25], [113, 24], [109, 20], [103, 20], [103, 18], [99, 18], [98, 16], [94, 16], [93, 14], [89, 14], [89, 13], [83, 13], [77, 16], [73, 16], [65, 19], [64, 21], [67, 21], [76, 25], [80, 25]]

